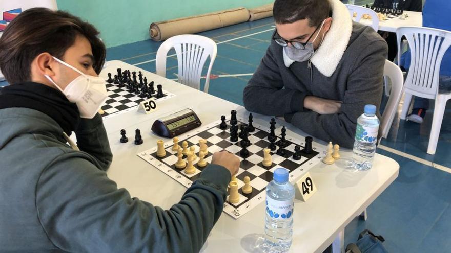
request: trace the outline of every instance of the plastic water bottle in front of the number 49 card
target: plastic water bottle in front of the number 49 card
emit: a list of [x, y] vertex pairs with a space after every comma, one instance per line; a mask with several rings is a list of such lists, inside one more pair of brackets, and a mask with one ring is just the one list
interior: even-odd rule
[[286, 252], [293, 236], [293, 200], [295, 189], [288, 181], [288, 170], [278, 168], [266, 188], [264, 224], [265, 252]]

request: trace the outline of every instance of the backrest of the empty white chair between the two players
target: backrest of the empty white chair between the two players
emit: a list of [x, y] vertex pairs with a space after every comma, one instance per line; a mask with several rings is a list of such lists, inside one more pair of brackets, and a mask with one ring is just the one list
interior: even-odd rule
[[178, 61], [178, 82], [200, 88], [203, 65], [210, 56], [210, 65], [205, 78], [204, 92], [208, 93], [210, 74], [216, 58], [217, 45], [207, 37], [193, 34], [177, 35], [163, 42], [156, 55], [156, 74], [166, 77], [166, 58], [169, 50], [175, 49]]

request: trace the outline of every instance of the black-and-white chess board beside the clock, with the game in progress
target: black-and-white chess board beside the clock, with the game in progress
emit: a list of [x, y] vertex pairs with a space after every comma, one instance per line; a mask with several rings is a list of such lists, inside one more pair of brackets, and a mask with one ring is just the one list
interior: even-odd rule
[[[245, 122], [243, 119], [238, 117], [238, 126]], [[182, 141], [188, 142], [188, 147], [194, 146], [195, 153], [198, 155], [200, 150], [199, 140], [207, 140], [208, 155], [204, 158], [208, 164], [211, 163], [212, 154], [217, 151], [227, 150], [233, 154], [236, 154], [240, 159], [240, 168], [236, 174], [236, 180], [238, 182], [238, 193], [239, 202], [230, 203], [226, 200], [224, 203], [223, 211], [231, 215], [235, 219], [238, 219], [248, 211], [252, 210], [255, 206], [264, 201], [266, 192], [265, 188], [268, 183], [273, 179], [273, 172], [276, 168], [286, 168], [290, 171], [290, 182], [294, 182], [301, 175], [306, 173], [310, 168], [315, 166], [321, 161], [321, 159], [327, 154], [325, 150], [319, 150], [319, 146], [314, 142], [312, 143], [313, 152], [311, 154], [305, 154], [302, 152], [302, 158], [300, 160], [295, 160], [292, 158], [294, 154], [295, 145], [300, 145], [301, 149], [304, 146], [304, 141], [296, 140], [291, 136], [285, 136], [285, 155], [279, 156], [275, 151], [271, 151], [272, 154], [272, 165], [269, 167], [264, 167], [262, 165], [263, 161], [263, 149], [269, 146], [268, 134], [270, 129], [268, 127], [254, 124], [255, 131], [249, 133], [249, 140], [251, 146], [247, 149], [249, 150], [249, 155], [247, 157], [240, 156], [240, 142], [230, 141], [230, 116], [227, 118], [227, 129], [220, 129], [219, 124], [221, 121], [213, 122], [209, 125], [201, 126], [184, 135], [178, 136], [179, 145]], [[269, 124], [268, 124], [269, 125]], [[276, 145], [280, 141], [280, 127], [276, 129], [277, 141]], [[158, 168], [163, 173], [166, 173], [171, 178], [175, 179], [183, 186], [189, 188], [192, 182], [200, 177], [200, 173], [206, 167], [199, 167], [197, 163], [194, 163], [196, 172], [194, 174], [186, 174], [184, 169], [177, 169], [175, 163], [177, 162], [177, 152], [172, 150], [173, 142], [172, 140], [165, 142], [166, 149], [165, 157], [157, 157], [157, 147], [151, 148], [149, 150], [138, 153], [137, 155], [146, 162]], [[183, 156], [185, 159], [186, 156]], [[197, 159], [198, 160], [198, 159]], [[242, 192], [242, 187], [244, 186], [243, 178], [249, 176], [251, 179], [251, 187], [253, 188], [252, 193], [244, 194]], [[263, 210], [262, 210], [263, 212]]]

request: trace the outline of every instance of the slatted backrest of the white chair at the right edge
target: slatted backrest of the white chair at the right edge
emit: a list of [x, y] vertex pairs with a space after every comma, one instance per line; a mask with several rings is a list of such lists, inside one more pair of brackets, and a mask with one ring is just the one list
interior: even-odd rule
[[[434, 99], [438, 91], [443, 55], [451, 45], [451, 32], [426, 27], [401, 27], [396, 30], [396, 36], [398, 49], [402, 36], [405, 36], [411, 51], [405, 89], [413, 95]], [[400, 50], [398, 59], [401, 59]]]

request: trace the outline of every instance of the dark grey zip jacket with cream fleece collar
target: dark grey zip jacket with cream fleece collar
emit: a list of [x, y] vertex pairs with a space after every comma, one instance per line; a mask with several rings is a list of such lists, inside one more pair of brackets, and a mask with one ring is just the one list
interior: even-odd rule
[[[388, 49], [371, 27], [353, 22], [340, 1], [331, 3], [330, 31], [311, 61], [292, 61], [272, 41], [244, 88], [243, 101], [249, 111], [284, 116], [307, 134], [352, 148], [364, 106], [374, 104], [379, 110]], [[341, 109], [322, 115], [305, 109], [303, 101], [309, 95], [342, 101]]]

